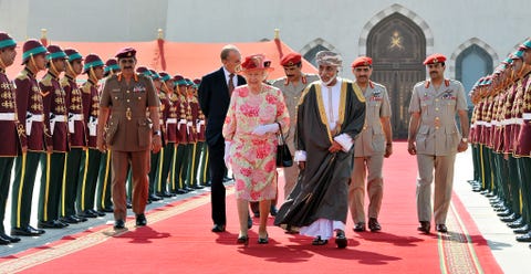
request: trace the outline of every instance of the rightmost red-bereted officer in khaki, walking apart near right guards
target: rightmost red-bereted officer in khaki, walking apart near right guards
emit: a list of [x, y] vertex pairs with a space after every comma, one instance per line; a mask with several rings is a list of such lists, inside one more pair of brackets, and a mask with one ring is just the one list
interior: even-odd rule
[[409, 103], [408, 148], [417, 156], [417, 214], [419, 231], [429, 233], [431, 220], [431, 182], [435, 169], [435, 224], [447, 232], [446, 217], [450, 205], [456, 152], [467, 150], [467, 138], [461, 138], [456, 125], [459, 115], [462, 136], [468, 136], [468, 112], [465, 88], [455, 80], [447, 80], [446, 56], [433, 54], [424, 64], [429, 80], [417, 83]]

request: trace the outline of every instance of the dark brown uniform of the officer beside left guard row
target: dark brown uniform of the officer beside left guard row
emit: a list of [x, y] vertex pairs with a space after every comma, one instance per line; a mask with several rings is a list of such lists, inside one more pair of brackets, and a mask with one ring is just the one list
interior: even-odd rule
[[143, 214], [148, 197], [147, 173], [152, 148], [152, 123], [146, 116], [148, 107], [159, 106], [155, 87], [149, 77], [135, 74], [127, 83], [122, 74], [105, 82], [101, 107], [111, 108], [106, 144], [113, 151], [113, 203], [115, 220], [126, 218], [125, 181], [127, 167], [133, 173], [133, 211]]

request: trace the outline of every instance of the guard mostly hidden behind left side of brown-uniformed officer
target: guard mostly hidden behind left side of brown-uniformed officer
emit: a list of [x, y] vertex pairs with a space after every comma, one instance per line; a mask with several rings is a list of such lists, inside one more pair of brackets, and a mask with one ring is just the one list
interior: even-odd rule
[[[119, 65], [116, 59], [110, 59], [105, 62], [105, 68], [103, 71], [104, 77], [110, 77], [116, 73], [119, 73]], [[105, 126], [106, 128], [106, 126]], [[105, 135], [105, 133], [103, 133]], [[107, 149], [105, 154], [102, 154], [100, 159], [100, 176], [97, 179], [97, 193], [96, 193], [96, 209], [100, 212], [113, 212], [113, 201], [111, 199], [111, 149]]]

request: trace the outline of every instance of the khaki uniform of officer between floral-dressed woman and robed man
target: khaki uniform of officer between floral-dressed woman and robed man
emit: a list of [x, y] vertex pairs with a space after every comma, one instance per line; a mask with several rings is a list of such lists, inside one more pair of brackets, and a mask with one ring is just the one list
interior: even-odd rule
[[[274, 80], [271, 85], [281, 89], [282, 94], [284, 95], [285, 106], [288, 107], [288, 112], [290, 113], [291, 122], [290, 122], [290, 130], [289, 133], [283, 133], [285, 143], [290, 148], [290, 151], [294, 155], [295, 151], [295, 126], [296, 126], [296, 105], [299, 104], [299, 98], [301, 97], [302, 92], [310, 85], [312, 82], [319, 81], [319, 76], [315, 74], [303, 74], [301, 81], [296, 85], [288, 81], [288, 77], [281, 77]], [[299, 176], [299, 168], [296, 165], [293, 165], [289, 168], [283, 168], [284, 170], [284, 198], [291, 193], [293, 188], [295, 187], [296, 178]]]

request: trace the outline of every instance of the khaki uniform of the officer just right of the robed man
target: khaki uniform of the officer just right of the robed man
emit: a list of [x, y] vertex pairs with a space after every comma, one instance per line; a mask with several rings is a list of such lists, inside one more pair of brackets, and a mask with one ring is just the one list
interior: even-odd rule
[[391, 117], [389, 96], [385, 86], [369, 82], [364, 96], [365, 126], [354, 143], [354, 168], [348, 187], [348, 202], [354, 223], [365, 222], [365, 177], [369, 198], [368, 218], [378, 218], [383, 198], [382, 168], [386, 148], [381, 117]]

